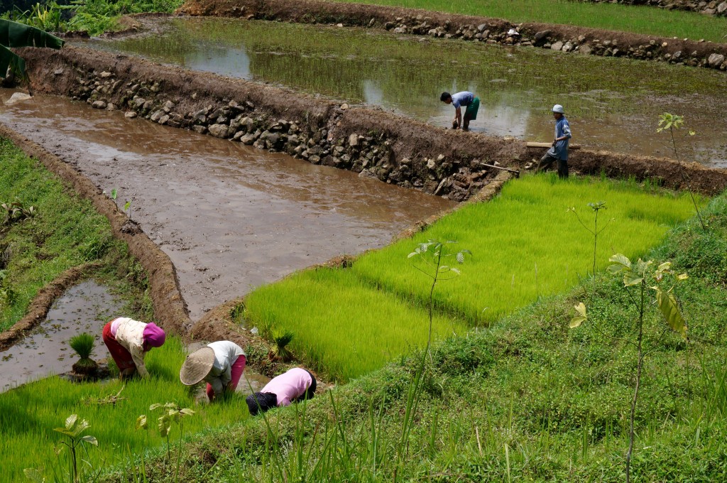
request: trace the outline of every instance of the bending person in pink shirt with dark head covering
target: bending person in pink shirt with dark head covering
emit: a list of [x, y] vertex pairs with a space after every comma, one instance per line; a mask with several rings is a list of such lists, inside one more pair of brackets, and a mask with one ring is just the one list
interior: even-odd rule
[[278, 375], [270, 380], [259, 393], [250, 394], [245, 399], [251, 415], [265, 412], [273, 407], [288, 406], [300, 399], [312, 399], [316, 393], [316, 378], [300, 367]]

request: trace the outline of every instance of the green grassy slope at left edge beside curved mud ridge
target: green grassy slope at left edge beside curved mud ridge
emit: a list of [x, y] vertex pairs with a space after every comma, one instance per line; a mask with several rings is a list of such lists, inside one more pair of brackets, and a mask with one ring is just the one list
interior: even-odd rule
[[68, 268], [97, 260], [105, 266], [101, 278], [122, 282], [117, 286], [134, 300], [134, 310], [149, 314], [148, 295], [137, 292], [144, 290], [145, 274], [90, 201], [70, 193], [8, 140], [0, 139], [0, 163], [0, 201], [18, 199], [36, 209], [35, 216], [0, 227], [0, 252], [9, 254], [0, 266], [0, 290], [7, 294], [0, 299], [0, 331], [25, 315], [41, 287]]

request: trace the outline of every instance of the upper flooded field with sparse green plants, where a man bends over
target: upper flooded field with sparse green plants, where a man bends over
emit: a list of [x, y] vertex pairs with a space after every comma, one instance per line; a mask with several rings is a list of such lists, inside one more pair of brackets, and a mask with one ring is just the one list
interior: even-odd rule
[[140, 34], [73, 44], [377, 105], [441, 127], [453, 109], [439, 94], [467, 89], [482, 100], [474, 131], [525, 140], [552, 138], [548, 109], [561, 103], [575, 142], [646, 156], [673, 156], [656, 125], [660, 113], [680, 113], [697, 132], [678, 139], [685, 159], [727, 167], [727, 80], [718, 71], [360, 28], [216, 17], [143, 23]]

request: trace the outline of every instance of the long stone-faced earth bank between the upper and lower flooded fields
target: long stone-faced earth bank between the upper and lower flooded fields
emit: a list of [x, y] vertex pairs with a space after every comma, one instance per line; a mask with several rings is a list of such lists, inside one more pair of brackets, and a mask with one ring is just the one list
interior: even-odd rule
[[[282, 151], [462, 201], [497, 175], [482, 162], [524, 167], [542, 155], [524, 142], [452, 131], [377, 109], [348, 108], [241, 79], [185, 71], [87, 49], [23, 49], [33, 88], [123, 109], [158, 124]], [[675, 161], [606, 151], [574, 151], [571, 165], [585, 174], [651, 178], [686, 186]], [[714, 194], [727, 172], [686, 165], [691, 186]], [[107, 200], [109, 201], [109, 200]], [[113, 204], [112, 204], [113, 206]]]

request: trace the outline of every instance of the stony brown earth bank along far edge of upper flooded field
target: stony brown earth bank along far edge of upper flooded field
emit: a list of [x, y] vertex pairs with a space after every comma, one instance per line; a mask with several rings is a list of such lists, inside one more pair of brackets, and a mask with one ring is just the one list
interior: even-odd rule
[[[531, 39], [536, 33], [545, 31], [549, 31], [547, 37], [553, 41], [568, 41], [582, 36], [583, 40], [580, 43], [588, 44], [595, 39], [601, 41], [608, 39], [612, 42], [616, 41], [619, 50], [622, 52], [627, 52], [630, 48], [638, 49], [638, 47], [654, 41], [659, 46], [659, 52], [662, 54], [673, 55], [675, 52], [691, 54], [696, 52], [696, 55], [692, 57], [702, 59], [706, 59], [712, 53], [727, 56], [726, 44], [693, 40], [683, 41], [667, 37], [606, 31], [571, 25], [549, 23], [515, 24], [498, 18], [366, 4], [329, 3], [316, 0], [188, 0], [178, 9], [178, 12], [187, 15], [245, 17], [300, 23], [343, 23], [344, 25], [375, 26], [379, 28], [387, 22], [395, 22], [397, 17], [409, 17], [414, 20], [417, 18], [423, 20], [426, 17], [427, 25], [430, 25], [430, 28], [446, 27], [447, 31], [452, 32], [457, 31], [458, 28], [467, 28], [468, 25], [486, 24], [489, 31], [505, 32], [510, 28], [517, 28], [521, 36], [527, 36]], [[421, 22], [419, 21], [419, 23]], [[667, 47], [660, 47], [664, 42], [666, 42]]]

